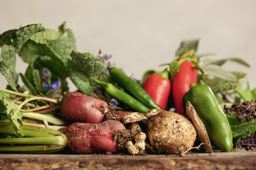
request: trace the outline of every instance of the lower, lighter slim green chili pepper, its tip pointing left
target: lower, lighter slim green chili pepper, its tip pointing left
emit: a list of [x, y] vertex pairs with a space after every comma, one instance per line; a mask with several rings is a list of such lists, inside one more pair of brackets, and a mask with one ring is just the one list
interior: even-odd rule
[[93, 79], [94, 82], [99, 84], [101, 88], [107, 93], [108, 95], [117, 99], [117, 101], [126, 104], [128, 107], [132, 108], [133, 110], [145, 114], [150, 110], [144, 104], [139, 102], [137, 99], [130, 96], [128, 93], [121, 91], [120, 89], [116, 88], [113, 84], [108, 82], [103, 82], [99, 79]]

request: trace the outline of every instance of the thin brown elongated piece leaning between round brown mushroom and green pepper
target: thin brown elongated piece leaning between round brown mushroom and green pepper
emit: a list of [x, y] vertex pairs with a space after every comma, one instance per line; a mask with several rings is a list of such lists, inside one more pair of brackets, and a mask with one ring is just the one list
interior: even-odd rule
[[186, 102], [186, 114], [188, 115], [188, 118], [192, 122], [193, 126], [195, 127], [198, 139], [203, 143], [202, 148], [204, 148], [204, 150], [206, 150], [207, 152], [213, 152], [204, 123], [202, 122], [195, 108], [189, 101]]

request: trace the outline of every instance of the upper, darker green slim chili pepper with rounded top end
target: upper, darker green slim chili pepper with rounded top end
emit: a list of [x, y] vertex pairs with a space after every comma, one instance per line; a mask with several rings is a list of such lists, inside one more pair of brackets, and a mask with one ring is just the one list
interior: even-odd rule
[[141, 87], [140, 84], [128, 77], [120, 68], [110, 68], [110, 76], [119, 86], [124, 89], [124, 91], [129, 93], [135, 99], [139, 100], [139, 102], [148, 108], [161, 108]]

